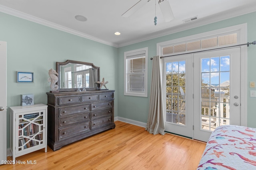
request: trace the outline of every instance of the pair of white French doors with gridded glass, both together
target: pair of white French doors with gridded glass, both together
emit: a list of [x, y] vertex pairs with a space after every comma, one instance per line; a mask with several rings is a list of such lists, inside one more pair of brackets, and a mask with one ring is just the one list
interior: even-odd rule
[[207, 142], [216, 127], [240, 125], [240, 48], [163, 59], [167, 132]]

